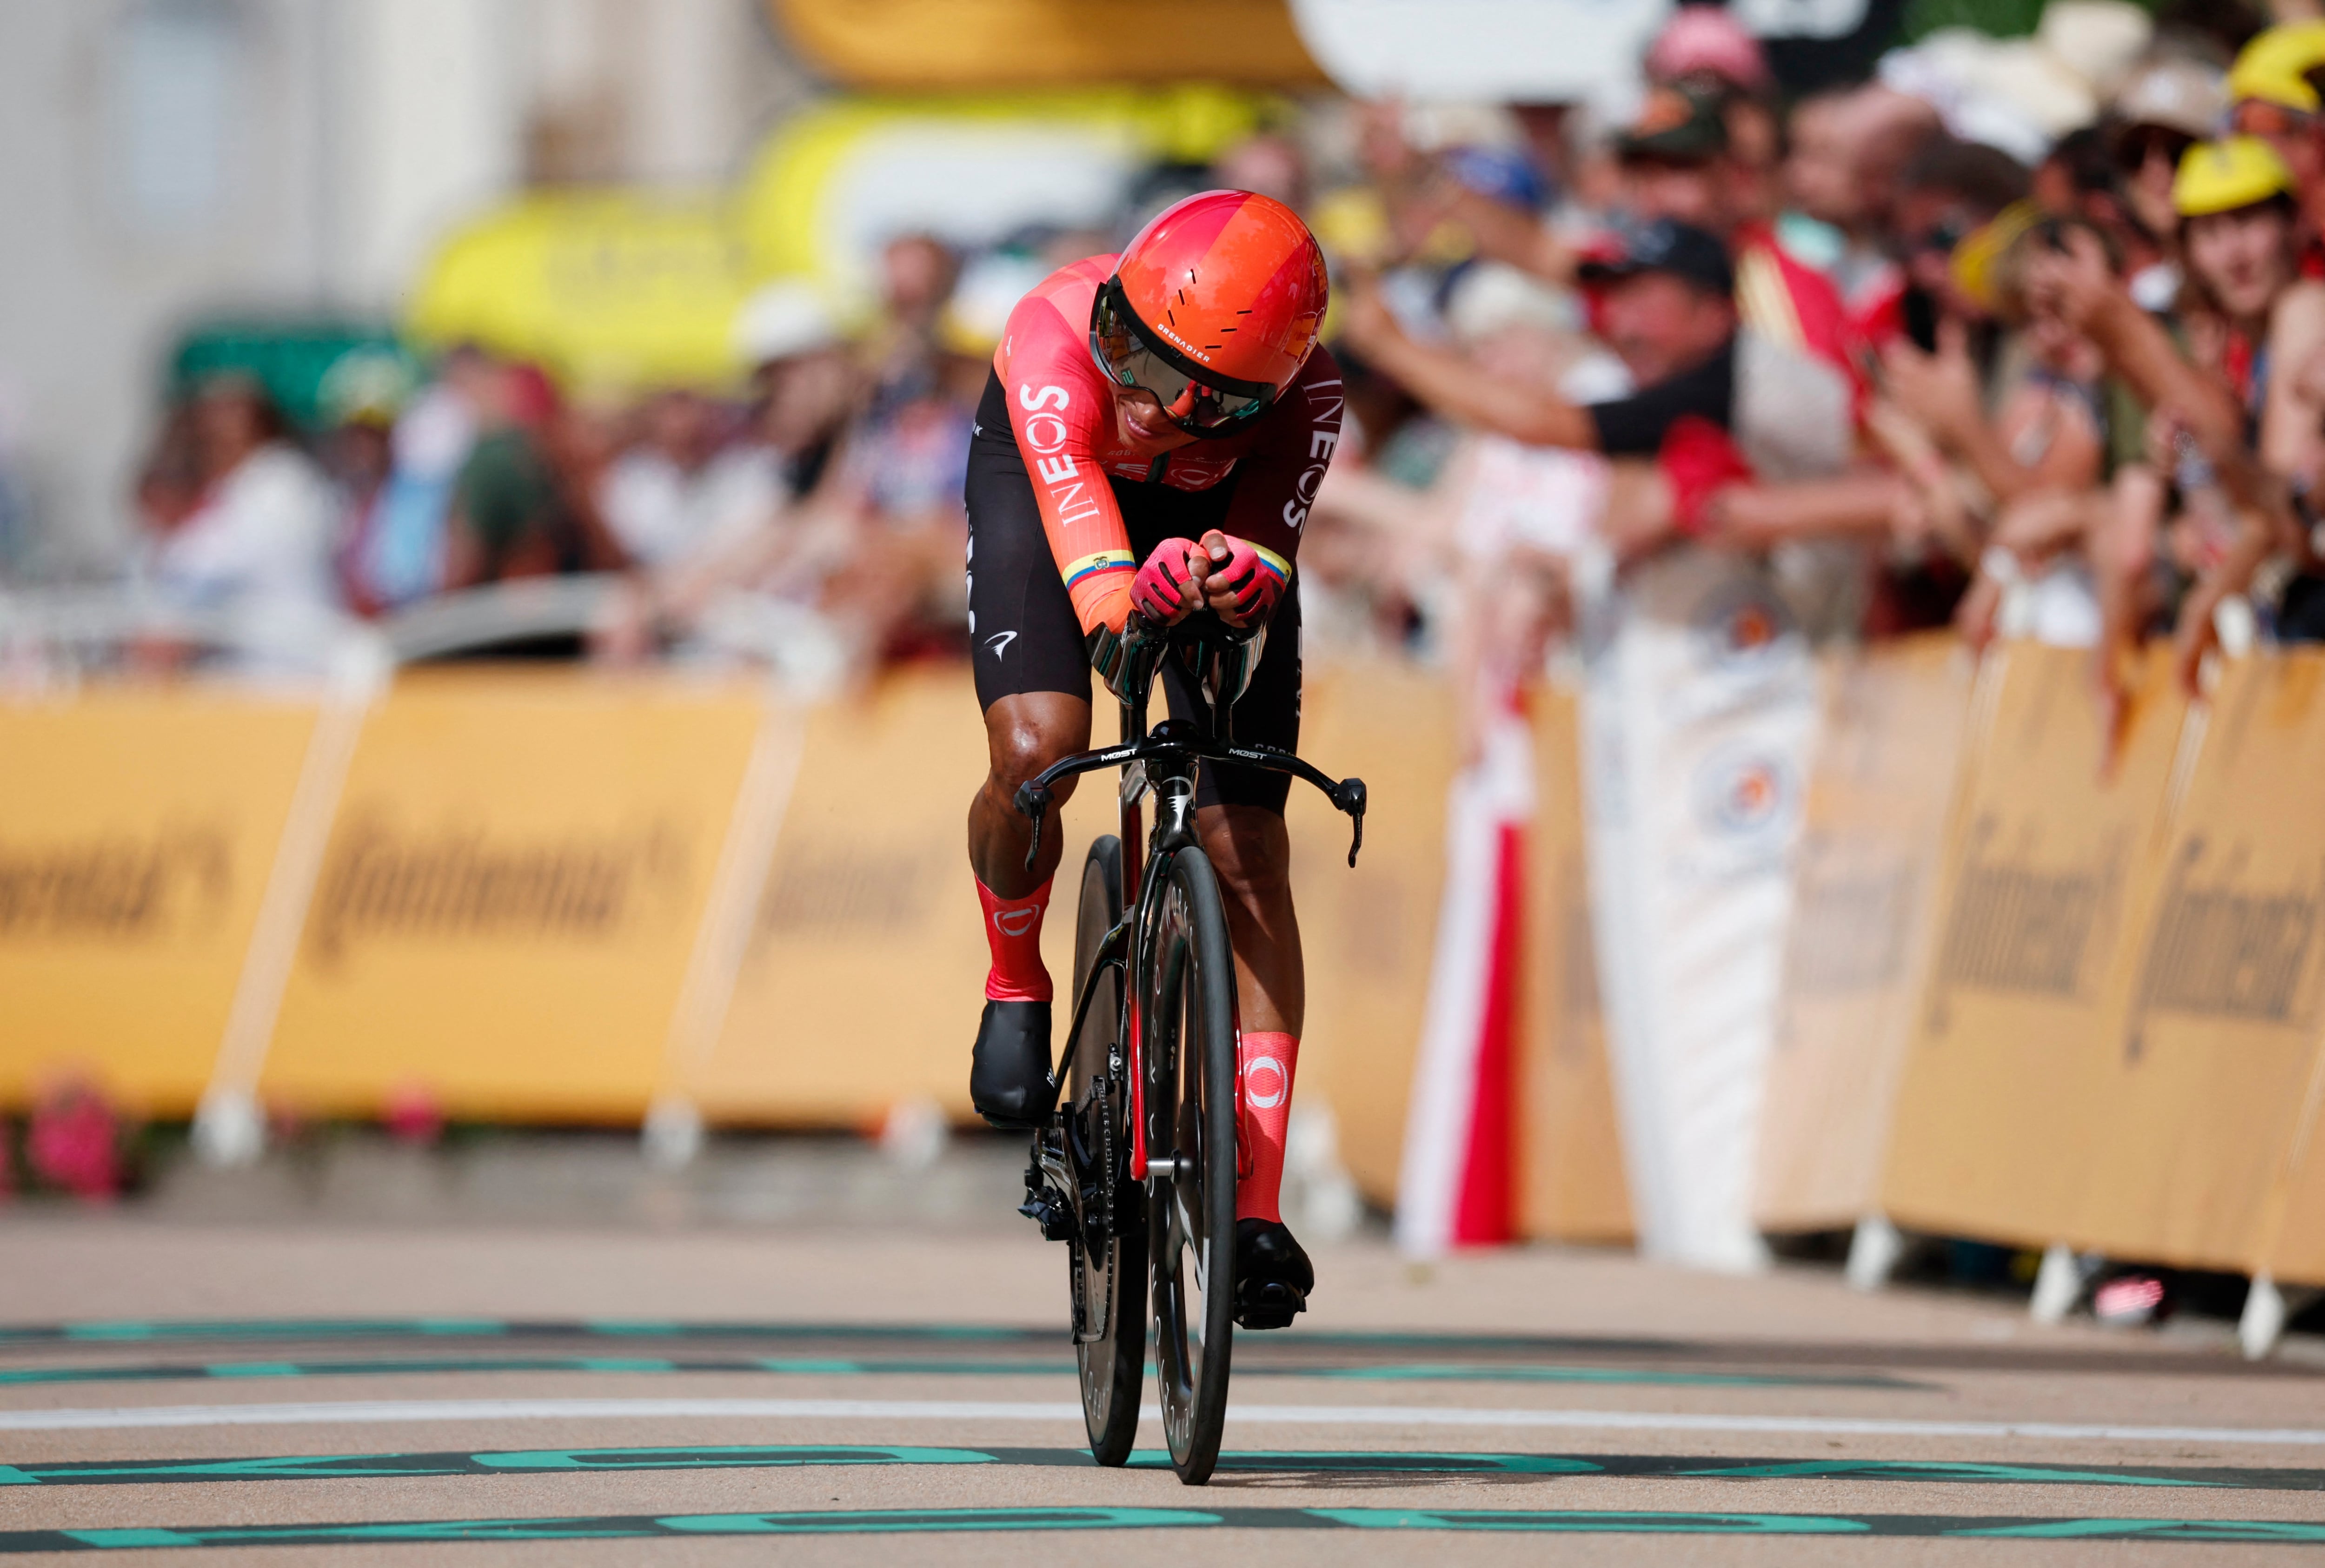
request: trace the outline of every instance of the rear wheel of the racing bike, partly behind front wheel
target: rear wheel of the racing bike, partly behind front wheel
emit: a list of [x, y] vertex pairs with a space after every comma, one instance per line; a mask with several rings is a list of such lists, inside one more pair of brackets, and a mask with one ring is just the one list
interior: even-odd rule
[[[1107, 834], [1081, 862], [1074, 908], [1074, 997], [1097, 964], [1097, 945], [1121, 920], [1123, 843]], [[1146, 1203], [1130, 1182], [1130, 1078], [1121, 1050], [1123, 971], [1097, 978], [1081, 1043], [1065, 1076], [1065, 1161], [1074, 1175], [1070, 1285], [1081, 1419], [1090, 1456], [1118, 1466], [1139, 1433], [1146, 1373]]]

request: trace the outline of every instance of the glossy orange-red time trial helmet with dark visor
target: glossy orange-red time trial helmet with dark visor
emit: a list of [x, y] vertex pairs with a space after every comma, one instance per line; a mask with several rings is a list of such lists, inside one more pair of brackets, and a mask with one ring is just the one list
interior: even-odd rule
[[1204, 190], [1165, 207], [1090, 307], [1090, 353], [1190, 434], [1258, 418], [1316, 348], [1323, 251], [1283, 202]]

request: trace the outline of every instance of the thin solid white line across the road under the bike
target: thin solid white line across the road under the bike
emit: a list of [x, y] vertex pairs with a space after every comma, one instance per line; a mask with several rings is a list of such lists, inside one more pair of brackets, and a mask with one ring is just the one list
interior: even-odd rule
[[[1146, 1408], [1151, 1419], [1156, 1412]], [[2106, 1426], [2081, 1422], [1881, 1422], [1820, 1415], [1651, 1410], [1476, 1410], [1430, 1405], [1230, 1405], [1246, 1426], [1555, 1426], [1567, 1431], [1758, 1431], [1853, 1438], [2034, 1438], [2048, 1443], [2246, 1443], [2325, 1447], [2316, 1426]], [[944, 1398], [353, 1398], [251, 1405], [0, 1410], [0, 1431], [126, 1426], [367, 1426], [381, 1422], [879, 1419], [1081, 1422], [1081, 1405]]]

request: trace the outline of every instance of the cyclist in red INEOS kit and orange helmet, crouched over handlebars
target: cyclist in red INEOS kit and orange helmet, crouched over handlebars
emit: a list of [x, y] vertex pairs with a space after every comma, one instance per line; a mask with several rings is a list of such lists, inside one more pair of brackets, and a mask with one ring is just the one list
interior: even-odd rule
[[[1090, 671], [1118, 678], [1123, 623], [1211, 613], [1267, 627], [1235, 736], [1300, 739], [1293, 553], [1339, 441], [1342, 381], [1316, 346], [1323, 251], [1265, 195], [1204, 190], [1121, 256], [1060, 267], [993, 355], [970, 446], [970, 632], [990, 774], [970, 804], [970, 866], [993, 969], [970, 1099], [995, 1127], [1051, 1108], [1042, 913], [1063, 841], [1025, 869], [1016, 787], [1090, 743]], [[1165, 664], [1169, 711], [1200, 697]], [[1060, 781], [1058, 799], [1072, 787]], [[1279, 1329], [1314, 1271], [1279, 1213], [1304, 973], [1293, 918], [1288, 781], [1207, 764], [1197, 829], [1218, 871], [1242, 1001], [1237, 1322]]]

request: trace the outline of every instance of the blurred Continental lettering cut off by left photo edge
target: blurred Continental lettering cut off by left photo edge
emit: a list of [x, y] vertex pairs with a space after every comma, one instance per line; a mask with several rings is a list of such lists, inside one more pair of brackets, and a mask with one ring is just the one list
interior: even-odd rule
[[0, 839], [0, 943], [200, 936], [216, 927], [233, 892], [233, 843], [221, 829]]

